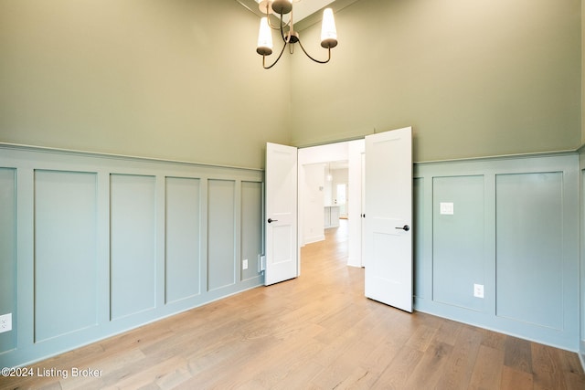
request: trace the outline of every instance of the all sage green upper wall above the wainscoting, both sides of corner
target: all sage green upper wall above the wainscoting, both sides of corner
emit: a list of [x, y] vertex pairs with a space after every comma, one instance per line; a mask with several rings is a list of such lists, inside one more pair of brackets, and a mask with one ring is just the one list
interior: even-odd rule
[[0, 0], [0, 142], [253, 168], [406, 125], [417, 161], [576, 149], [580, 3], [359, 0], [332, 63], [267, 71], [235, 0]]

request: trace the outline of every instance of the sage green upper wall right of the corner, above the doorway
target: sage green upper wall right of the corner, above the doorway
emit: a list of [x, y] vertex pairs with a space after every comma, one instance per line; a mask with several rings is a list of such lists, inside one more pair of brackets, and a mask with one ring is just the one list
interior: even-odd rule
[[[413, 126], [414, 158], [580, 146], [580, 0], [360, 0], [292, 60], [293, 143]], [[314, 57], [319, 26], [301, 32]]]

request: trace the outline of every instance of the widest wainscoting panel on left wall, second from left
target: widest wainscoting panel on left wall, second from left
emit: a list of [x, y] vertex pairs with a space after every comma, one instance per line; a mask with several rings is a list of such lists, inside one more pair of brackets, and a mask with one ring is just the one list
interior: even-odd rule
[[97, 324], [96, 178], [35, 171], [35, 343]]

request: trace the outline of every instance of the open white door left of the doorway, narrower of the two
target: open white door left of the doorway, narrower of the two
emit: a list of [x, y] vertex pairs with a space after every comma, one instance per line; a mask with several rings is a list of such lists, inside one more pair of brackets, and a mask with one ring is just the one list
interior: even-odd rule
[[299, 275], [297, 149], [266, 144], [266, 286]]

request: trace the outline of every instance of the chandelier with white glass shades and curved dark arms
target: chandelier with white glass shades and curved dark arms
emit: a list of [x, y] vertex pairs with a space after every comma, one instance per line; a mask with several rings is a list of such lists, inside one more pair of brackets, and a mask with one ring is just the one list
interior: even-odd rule
[[[264, 69], [271, 69], [279, 59], [282, 57], [284, 49], [289, 46], [289, 52], [293, 54], [294, 44], [298, 43], [303, 53], [320, 64], [326, 64], [331, 59], [331, 49], [337, 46], [337, 31], [335, 29], [335, 19], [333, 17], [333, 10], [325, 8], [323, 12], [323, 22], [321, 26], [321, 47], [327, 49], [327, 59], [322, 61], [315, 59], [307, 53], [301, 43], [299, 33], [294, 31], [293, 23], [293, 0], [261, 0], [259, 4], [263, 16], [260, 21], [260, 31], [258, 33], [258, 46], [256, 52], [262, 56], [262, 67]], [[288, 21], [285, 23], [284, 17], [291, 14]], [[270, 15], [278, 16], [280, 19], [280, 26], [272, 26]], [[282, 49], [278, 58], [269, 66], [266, 65], [266, 56], [272, 54], [272, 33], [271, 28], [281, 31]]]

